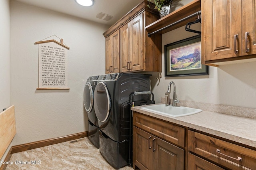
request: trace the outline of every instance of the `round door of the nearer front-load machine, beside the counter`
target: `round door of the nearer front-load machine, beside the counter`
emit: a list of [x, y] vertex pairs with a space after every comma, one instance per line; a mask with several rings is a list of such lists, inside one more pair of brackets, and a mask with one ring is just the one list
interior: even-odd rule
[[104, 82], [96, 85], [94, 90], [94, 111], [99, 121], [105, 122], [110, 113], [111, 99]]

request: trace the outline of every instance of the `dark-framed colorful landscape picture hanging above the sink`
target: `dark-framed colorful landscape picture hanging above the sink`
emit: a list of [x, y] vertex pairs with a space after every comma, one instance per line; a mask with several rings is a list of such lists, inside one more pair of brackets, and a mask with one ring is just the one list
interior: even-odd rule
[[164, 45], [165, 77], [209, 75], [201, 64], [201, 35]]

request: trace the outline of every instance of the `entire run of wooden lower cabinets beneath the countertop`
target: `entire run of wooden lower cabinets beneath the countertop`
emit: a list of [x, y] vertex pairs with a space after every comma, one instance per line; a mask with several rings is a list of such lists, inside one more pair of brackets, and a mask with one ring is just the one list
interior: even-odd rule
[[133, 168], [256, 170], [256, 148], [133, 111]]

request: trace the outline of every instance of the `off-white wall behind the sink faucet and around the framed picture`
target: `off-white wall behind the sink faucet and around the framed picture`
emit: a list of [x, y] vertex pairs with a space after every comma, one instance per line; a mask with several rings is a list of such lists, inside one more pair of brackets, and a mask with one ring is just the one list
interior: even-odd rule
[[163, 77], [160, 83], [156, 81], [156, 74], [152, 77], [156, 102], [161, 102], [160, 98], [164, 97], [168, 84], [174, 81], [180, 100], [256, 109], [256, 62], [210, 67], [209, 76], [164, 77], [164, 45], [194, 35], [197, 34], [186, 32], [185, 27], [162, 35]]

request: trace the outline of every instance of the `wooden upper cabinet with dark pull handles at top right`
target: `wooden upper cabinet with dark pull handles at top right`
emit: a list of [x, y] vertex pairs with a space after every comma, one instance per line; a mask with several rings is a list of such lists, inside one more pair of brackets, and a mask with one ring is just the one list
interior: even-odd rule
[[203, 63], [245, 59], [241, 56], [256, 54], [254, 7], [255, 0], [201, 1]]

